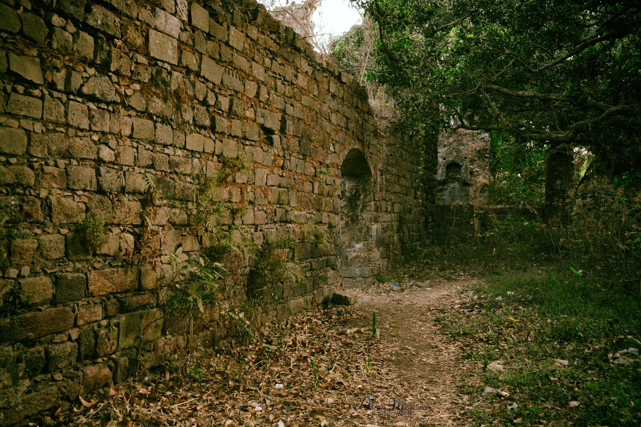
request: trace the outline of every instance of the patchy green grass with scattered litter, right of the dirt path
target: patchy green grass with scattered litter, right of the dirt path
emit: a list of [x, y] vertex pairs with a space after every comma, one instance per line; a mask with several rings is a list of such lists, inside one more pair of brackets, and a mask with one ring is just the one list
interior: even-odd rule
[[[617, 364], [621, 359], [612, 356], [641, 348], [639, 295], [569, 273], [550, 268], [490, 278], [471, 290], [478, 299], [463, 298], [458, 312], [438, 318], [472, 365], [462, 387], [470, 401], [478, 402], [485, 386], [510, 392], [508, 398], [488, 394], [489, 404], [467, 416], [483, 424], [501, 418], [525, 426], [639, 425], [640, 358]], [[469, 311], [462, 316], [460, 310]], [[568, 364], [557, 366], [555, 359]], [[505, 371], [487, 369], [497, 361]], [[510, 403], [519, 406], [508, 410]]]

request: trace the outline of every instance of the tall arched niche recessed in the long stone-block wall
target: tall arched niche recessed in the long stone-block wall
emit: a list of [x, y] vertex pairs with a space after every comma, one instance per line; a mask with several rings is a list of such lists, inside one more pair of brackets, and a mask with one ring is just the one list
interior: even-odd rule
[[351, 149], [340, 166], [341, 276], [345, 287], [369, 286], [374, 247], [372, 169], [360, 149]]

